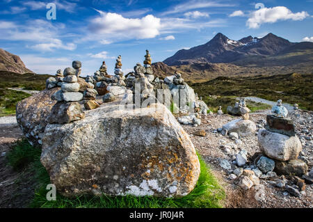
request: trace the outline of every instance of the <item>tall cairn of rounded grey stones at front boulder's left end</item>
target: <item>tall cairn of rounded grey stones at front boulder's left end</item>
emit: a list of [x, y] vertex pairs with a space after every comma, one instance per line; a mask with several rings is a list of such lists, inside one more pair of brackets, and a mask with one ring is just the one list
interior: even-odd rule
[[64, 77], [61, 90], [51, 95], [51, 99], [58, 102], [52, 107], [51, 113], [47, 117], [49, 123], [62, 124], [85, 117], [81, 104], [79, 104], [79, 101], [83, 100], [83, 93], [79, 92], [81, 86], [77, 82], [81, 63], [74, 61], [72, 65], [73, 68], [65, 68], [63, 72]]

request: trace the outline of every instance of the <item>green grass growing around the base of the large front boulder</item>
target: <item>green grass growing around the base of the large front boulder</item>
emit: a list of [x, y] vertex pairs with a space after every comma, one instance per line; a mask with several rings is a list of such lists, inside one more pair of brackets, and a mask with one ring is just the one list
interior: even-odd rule
[[40, 148], [33, 148], [26, 140], [19, 141], [8, 154], [8, 164], [16, 171], [29, 168], [38, 189], [29, 207], [103, 207], [103, 208], [167, 208], [167, 207], [222, 207], [225, 192], [211, 173], [207, 164], [198, 154], [201, 173], [195, 189], [182, 198], [156, 198], [135, 196], [77, 196], [66, 198], [57, 193], [56, 200], [46, 198], [50, 184], [49, 175], [40, 163]]

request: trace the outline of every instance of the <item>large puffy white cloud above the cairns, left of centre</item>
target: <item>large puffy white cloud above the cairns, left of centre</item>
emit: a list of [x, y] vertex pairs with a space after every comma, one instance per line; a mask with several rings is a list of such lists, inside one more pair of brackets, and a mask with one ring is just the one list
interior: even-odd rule
[[113, 38], [154, 38], [160, 34], [161, 19], [146, 15], [141, 19], [128, 19], [117, 13], [100, 13], [99, 17], [91, 20], [90, 31]]

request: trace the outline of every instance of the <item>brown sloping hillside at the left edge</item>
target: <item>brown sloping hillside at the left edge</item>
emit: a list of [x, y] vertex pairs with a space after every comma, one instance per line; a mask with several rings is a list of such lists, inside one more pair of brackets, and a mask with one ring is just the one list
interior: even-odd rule
[[19, 56], [11, 54], [3, 49], [0, 49], [0, 71], [15, 72], [19, 74], [34, 73], [25, 67], [25, 64]]

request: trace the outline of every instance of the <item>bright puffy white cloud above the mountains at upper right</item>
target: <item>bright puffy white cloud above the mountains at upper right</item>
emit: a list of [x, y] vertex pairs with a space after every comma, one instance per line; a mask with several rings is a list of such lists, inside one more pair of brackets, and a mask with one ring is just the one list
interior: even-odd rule
[[250, 29], [257, 29], [263, 23], [274, 23], [279, 20], [292, 19], [294, 21], [303, 20], [310, 16], [307, 12], [292, 13], [291, 10], [284, 6], [274, 8], [261, 8], [250, 14], [246, 26]]

